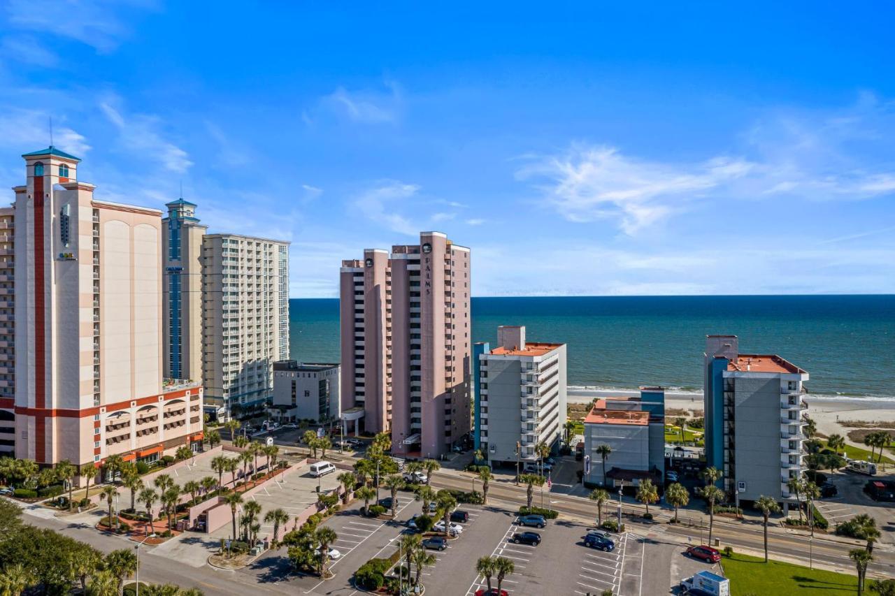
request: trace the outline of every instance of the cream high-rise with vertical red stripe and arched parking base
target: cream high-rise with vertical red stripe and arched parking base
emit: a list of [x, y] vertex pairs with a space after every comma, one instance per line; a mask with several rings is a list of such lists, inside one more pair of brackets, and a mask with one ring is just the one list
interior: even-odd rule
[[161, 212], [94, 199], [54, 147], [22, 157], [15, 455], [83, 466], [198, 447], [201, 385], [163, 379]]

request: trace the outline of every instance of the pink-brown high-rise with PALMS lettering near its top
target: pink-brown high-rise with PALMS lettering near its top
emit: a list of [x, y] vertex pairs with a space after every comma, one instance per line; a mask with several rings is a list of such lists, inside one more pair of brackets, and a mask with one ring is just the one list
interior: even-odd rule
[[449, 453], [470, 432], [470, 251], [439, 232], [340, 271], [342, 410], [396, 454]]

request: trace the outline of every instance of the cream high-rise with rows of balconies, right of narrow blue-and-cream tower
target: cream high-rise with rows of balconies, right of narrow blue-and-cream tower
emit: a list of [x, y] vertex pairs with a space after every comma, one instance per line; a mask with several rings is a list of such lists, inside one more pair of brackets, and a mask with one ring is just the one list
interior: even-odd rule
[[270, 403], [289, 357], [289, 243], [202, 238], [202, 383], [215, 417]]

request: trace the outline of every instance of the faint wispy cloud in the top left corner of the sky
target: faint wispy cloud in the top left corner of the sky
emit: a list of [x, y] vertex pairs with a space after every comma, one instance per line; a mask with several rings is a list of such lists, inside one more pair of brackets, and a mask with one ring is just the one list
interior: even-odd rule
[[154, 3], [133, 0], [43, 0], [36, 4], [31, 0], [6, 0], [4, 4], [6, 21], [15, 29], [48, 33], [79, 41], [99, 52], [111, 52], [130, 33], [118, 16], [118, 9], [149, 8]]

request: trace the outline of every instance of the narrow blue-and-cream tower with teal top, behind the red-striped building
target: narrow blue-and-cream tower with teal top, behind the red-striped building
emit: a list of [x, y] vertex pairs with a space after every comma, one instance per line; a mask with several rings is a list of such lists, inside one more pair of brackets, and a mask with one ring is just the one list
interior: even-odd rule
[[202, 237], [196, 205], [178, 199], [162, 219], [165, 376], [202, 378]]

